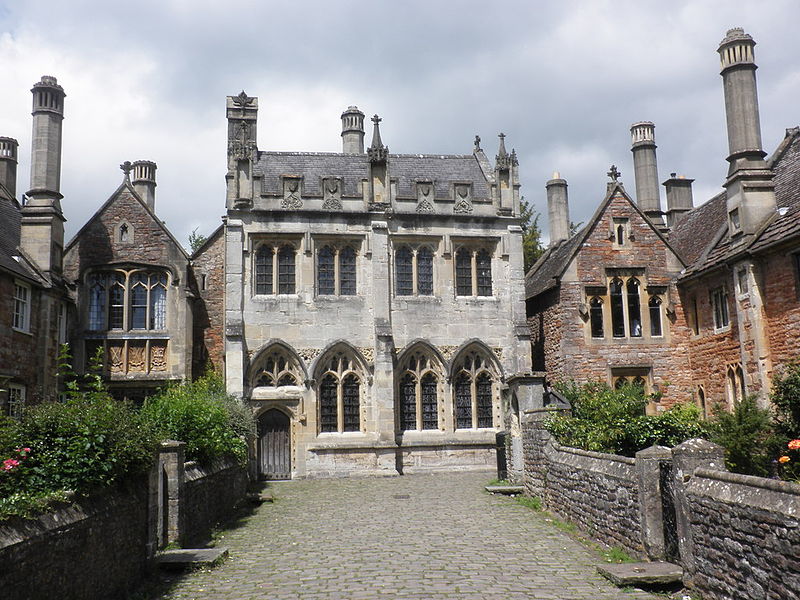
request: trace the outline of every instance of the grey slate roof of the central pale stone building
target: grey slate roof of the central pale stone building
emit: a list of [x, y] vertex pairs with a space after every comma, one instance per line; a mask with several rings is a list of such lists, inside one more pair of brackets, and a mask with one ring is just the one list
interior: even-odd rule
[[[450, 184], [472, 183], [472, 197], [488, 199], [489, 182], [473, 154], [390, 154], [389, 177], [397, 179], [400, 197], [414, 196], [414, 183], [434, 182], [436, 198], [450, 198]], [[281, 193], [281, 176], [303, 177], [303, 194], [322, 196], [322, 178], [340, 177], [345, 196], [361, 196], [361, 180], [369, 178], [366, 154], [328, 152], [259, 152], [255, 173], [267, 193]]]

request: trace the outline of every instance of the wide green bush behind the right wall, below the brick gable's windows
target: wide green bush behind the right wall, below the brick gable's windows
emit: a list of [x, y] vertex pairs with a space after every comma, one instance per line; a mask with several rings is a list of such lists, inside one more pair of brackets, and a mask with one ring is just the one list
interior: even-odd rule
[[693, 404], [645, 415], [648, 398], [636, 386], [611, 389], [600, 382], [570, 383], [559, 391], [570, 401], [572, 416], [552, 417], [546, 427], [565, 446], [633, 456], [653, 444], [675, 446], [709, 435]]

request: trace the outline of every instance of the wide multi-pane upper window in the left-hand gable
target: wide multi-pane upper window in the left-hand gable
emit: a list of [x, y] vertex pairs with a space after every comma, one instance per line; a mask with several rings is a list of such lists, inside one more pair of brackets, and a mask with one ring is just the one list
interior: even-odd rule
[[97, 270], [86, 277], [89, 331], [165, 331], [170, 275], [144, 267]]

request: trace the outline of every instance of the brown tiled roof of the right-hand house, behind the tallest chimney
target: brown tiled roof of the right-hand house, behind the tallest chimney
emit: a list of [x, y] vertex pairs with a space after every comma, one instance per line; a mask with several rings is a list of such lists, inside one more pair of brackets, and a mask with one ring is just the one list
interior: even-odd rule
[[670, 239], [689, 262], [684, 276], [713, 269], [734, 255], [759, 252], [800, 237], [800, 127], [786, 130], [786, 136], [767, 165], [775, 173], [773, 181], [778, 210], [746, 246], [731, 246], [727, 235], [725, 191], [689, 211], [678, 222]]

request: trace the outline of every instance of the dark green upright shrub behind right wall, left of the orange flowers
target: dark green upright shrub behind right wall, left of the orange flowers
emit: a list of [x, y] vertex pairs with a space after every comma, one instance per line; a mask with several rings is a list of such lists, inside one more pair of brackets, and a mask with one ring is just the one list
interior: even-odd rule
[[714, 410], [712, 441], [725, 448], [728, 469], [744, 475], [769, 477], [776, 439], [772, 413], [759, 408], [755, 396], [736, 402], [733, 411]]

